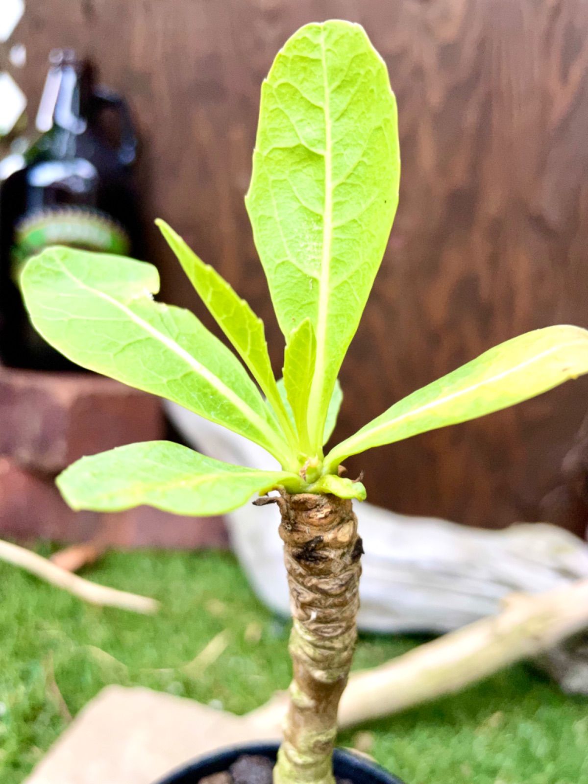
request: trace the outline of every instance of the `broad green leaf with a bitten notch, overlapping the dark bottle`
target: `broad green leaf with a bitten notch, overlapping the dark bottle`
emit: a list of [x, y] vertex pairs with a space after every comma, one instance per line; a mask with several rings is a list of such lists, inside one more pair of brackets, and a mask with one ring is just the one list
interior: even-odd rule
[[34, 327], [67, 358], [167, 397], [288, 461], [234, 354], [190, 311], [153, 301], [159, 280], [151, 264], [51, 248], [27, 263], [21, 284]]

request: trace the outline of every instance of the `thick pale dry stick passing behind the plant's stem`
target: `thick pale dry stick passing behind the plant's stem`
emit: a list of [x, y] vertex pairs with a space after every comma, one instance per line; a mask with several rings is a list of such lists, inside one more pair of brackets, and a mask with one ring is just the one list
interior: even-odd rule
[[[499, 615], [463, 626], [373, 670], [354, 673], [339, 705], [339, 727], [459, 691], [586, 629], [588, 579], [534, 596], [514, 594], [505, 604]], [[287, 704], [285, 695], [277, 695], [249, 719], [260, 732], [272, 735]]]

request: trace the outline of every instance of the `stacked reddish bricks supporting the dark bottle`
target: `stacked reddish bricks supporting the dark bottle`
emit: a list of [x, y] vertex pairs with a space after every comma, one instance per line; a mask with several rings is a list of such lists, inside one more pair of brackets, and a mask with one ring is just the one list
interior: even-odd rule
[[0, 368], [0, 537], [118, 547], [226, 546], [219, 517], [147, 506], [116, 514], [74, 512], [61, 499], [55, 477], [74, 460], [164, 434], [157, 397], [89, 373]]

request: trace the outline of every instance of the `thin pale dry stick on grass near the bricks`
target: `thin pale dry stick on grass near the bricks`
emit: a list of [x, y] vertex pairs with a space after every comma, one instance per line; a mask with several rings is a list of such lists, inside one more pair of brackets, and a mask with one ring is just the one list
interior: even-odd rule
[[58, 588], [73, 593], [74, 596], [89, 601], [91, 604], [100, 604], [105, 607], [118, 607], [131, 612], [151, 614], [157, 612], [159, 602], [146, 596], [137, 596], [136, 593], [127, 593], [124, 590], [100, 586], [90, 583], [78, 575], [72, 575], [65, 569], [52, 564], [36, 553], [31, 553], [25, 547], [11, 544], [0, 539], [0, 561], [7, 561], [13, 566], [19, 566], [27, 572], [36, 575], [46, 583], [51, 583]]

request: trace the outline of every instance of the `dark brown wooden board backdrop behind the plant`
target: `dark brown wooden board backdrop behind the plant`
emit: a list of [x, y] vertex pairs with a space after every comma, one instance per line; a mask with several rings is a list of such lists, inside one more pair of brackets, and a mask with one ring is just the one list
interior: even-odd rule
[[[296, 27], [364, 24], [400, 109], [401, 205], [343, 368], [338, 436], [525, 330], [588, 326], [585, 0], [27, 0], [16, 74], [36, 106], [52, 46], [93, 57], [132, 103], [145, 210], [271, 315], [243, 195], [260, 82]], [[165, 296], [202, 308], [153, 228]], [[580, 380], [350, 461], [395, 510], [499, 526], [538, 517], [588, 408]], [[572, 527], [583, 523], [575, 521]]]

